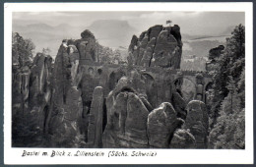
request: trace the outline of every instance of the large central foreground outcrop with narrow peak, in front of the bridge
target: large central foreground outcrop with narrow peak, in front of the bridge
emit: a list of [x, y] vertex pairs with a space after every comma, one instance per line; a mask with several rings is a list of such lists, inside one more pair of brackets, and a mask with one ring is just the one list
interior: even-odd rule
[[103, 147], [147, 147], [149, 111], [127, 78], [122, 78], [106, 98], [107, 125]]

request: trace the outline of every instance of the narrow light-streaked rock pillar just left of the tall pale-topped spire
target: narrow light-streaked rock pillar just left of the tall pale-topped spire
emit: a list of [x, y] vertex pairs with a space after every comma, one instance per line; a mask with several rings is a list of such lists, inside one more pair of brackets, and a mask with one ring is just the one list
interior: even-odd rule
[[50, 99], [52, 95], [52, 58], [42, 53], [37, 53], [33, 60], [30, 79], [30, 108], [36, 112], [38, 126], [46, 131]]

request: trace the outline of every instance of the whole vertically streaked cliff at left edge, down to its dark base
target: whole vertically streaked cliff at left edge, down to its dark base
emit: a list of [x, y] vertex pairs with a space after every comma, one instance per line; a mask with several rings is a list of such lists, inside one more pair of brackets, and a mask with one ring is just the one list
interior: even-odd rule
[[[36, 54], [32, 64], [13, 71], [13, 145], [39, 146], [51, 98], [52, 58]], [[23, 131], [23, 132], [21, 132]]]

